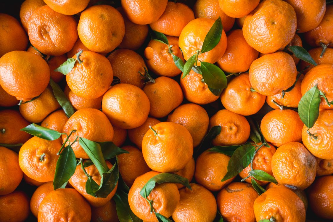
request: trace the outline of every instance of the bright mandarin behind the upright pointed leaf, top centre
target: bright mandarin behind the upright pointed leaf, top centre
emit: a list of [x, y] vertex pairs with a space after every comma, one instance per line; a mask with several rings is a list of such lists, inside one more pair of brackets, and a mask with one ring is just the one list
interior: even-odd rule
[[[181, 31], [179, 36], [179, 47], [182, 49], [184, 59], [188, 60], [196, 54], [196, 50], [201, 50], [203, 40], [205, 39], [209, 29], [212, 27], [214, 20], [207, 18], [197, 18], [190, 21]], [[227, 37], [222, 30], [221, 39], [212, 50], [202, 53], [198, 56], [198, 60], [202, 62], [215, 63], [221, 58], [227, 47]], [[198, 61], [197, 65], [200, 65]]]

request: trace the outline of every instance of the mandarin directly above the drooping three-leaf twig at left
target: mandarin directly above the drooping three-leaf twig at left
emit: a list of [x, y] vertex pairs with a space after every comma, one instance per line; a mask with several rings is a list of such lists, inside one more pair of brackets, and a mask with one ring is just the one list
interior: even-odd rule
[[[69, 135], [69, 141], [74, 142], [76, 136], [83, 137], [95, 142], [107, 142], [113, 138], [113, 127], [107, 116], [96, 109], [81, 109], [76, 111], [66, 122], [63, 133]], [[65, 142], [67, 135], [62, 135]], [[88, 154], [81, 145], [76, 142], [71, 145], [76, 158], [89, 159]]]

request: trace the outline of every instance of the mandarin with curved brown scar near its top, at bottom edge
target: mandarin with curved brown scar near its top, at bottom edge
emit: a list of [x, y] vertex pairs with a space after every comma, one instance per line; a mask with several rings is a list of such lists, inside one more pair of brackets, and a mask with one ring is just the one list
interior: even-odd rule
[[224, 220], [255, 221], [253, 203], [258, 196], [250, 184], [234, 182], [217, 194], [216, 201]]

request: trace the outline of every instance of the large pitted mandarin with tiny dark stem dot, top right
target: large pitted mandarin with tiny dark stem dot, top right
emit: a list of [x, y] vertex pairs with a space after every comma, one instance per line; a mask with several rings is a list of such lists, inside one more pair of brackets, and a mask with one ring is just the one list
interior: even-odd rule
[[284, 48], [296, 32], [296, 13], [282, 0], [262, 1], [244, 20], [243, 35], [255, 50], [273, 53]]

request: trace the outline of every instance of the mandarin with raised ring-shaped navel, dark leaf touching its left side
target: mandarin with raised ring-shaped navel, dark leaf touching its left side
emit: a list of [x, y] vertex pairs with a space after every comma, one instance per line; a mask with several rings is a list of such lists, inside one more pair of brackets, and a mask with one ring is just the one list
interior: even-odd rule
[[246, 118], [237, 113], [220, 110], [209, 120], [209, 128], [220, 125], [221, 133], [212, 141], [214, 146], [241, 145], [250, 136], [250, 125]]

